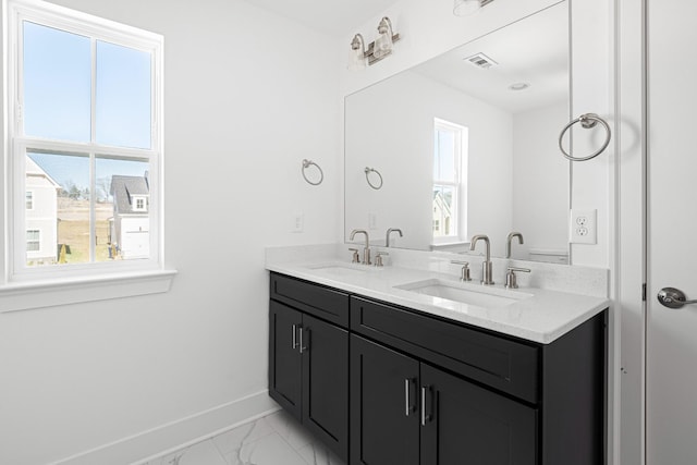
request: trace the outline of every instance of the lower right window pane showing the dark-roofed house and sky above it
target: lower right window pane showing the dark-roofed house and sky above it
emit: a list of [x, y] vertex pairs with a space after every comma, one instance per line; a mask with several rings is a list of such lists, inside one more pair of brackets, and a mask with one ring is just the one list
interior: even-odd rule
[[147, 160], [97, 158], [97, 261], [149, 257], [148, 169]]

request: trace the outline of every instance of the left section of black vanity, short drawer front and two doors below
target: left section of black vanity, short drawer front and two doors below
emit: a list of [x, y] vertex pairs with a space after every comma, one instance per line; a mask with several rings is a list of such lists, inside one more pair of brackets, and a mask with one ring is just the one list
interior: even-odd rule
[[[317, 292], [310, 283], [274, 278], [269, 305], [269, 395], [347, 460], [348, 331], [309, 311], [345, 314], [347, 318], [348, 297], [328, 289]], [[310, 292], [305, 293], [306, 289]], [[303, 311], [274, 299], [289, 293], [307, 296], [304, 305], [297, 305]]]

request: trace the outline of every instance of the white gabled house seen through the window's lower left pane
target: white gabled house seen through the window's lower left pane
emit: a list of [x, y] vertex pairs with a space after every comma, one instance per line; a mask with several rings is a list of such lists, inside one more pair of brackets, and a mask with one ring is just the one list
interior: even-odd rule
[[61, 186], [26, 157], [26, 260], [54, 264], [58, 255], [58, 191]]

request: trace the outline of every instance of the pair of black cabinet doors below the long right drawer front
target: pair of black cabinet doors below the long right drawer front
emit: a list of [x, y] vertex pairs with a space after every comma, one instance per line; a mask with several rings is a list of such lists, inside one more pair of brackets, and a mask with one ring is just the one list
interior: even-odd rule
[[536, 462], [534, 407], [352, 335], [351, 463]]

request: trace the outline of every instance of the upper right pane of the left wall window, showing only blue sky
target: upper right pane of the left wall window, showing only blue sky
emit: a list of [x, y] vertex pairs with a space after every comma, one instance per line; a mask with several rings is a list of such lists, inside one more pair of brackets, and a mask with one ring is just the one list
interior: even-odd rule
[[97, 41], [97, 143], [150, 148], [150, 53]]

